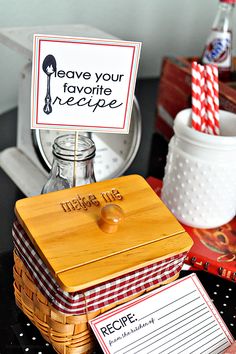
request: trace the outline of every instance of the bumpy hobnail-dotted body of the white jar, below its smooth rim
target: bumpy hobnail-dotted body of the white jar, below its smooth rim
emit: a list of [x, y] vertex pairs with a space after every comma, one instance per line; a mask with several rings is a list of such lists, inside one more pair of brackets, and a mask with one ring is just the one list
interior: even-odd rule
[[162, 199], [181, 222], [217, 227], [236, 210], [236, 166], [233, 161], [201, 160], [169, 144]]

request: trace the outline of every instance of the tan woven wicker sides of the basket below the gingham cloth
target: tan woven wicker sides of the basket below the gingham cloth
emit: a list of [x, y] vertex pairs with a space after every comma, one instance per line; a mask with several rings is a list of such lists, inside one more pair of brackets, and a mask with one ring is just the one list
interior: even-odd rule
[[[88, 354], [93, 351], [94, 338], [88, 321], [99, 314], [108, 311], [121, 303], [127, 302], [140, 296], [126, 298], [113, 303], [102, 310], [87, 313], [85, 315], [66, 315], [51, 306], [35, 285], [28, 270], [21, 259], [14, 252], [14, 290], [16, 304], [24, 314], [39, 329], [46, 341], [52, 344], [57, 353], [61, 354]], [[167, 284], [178, 277], [168, 279], [157, 286]], [[149, 288], [147, 291], [154, 289]]]

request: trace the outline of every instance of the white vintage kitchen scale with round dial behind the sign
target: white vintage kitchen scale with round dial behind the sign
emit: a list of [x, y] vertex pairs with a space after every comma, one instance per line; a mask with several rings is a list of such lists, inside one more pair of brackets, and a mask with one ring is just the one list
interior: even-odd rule
[[[26, 195], [41, 193], [52, 163], [52, 144], [63, 132], [30, 129], [31, 59], [33, 35], [57, 34], [117, 39], [85, 25], [1, 28], [0, 42], [22, 54], [27, 64], [20, 76], [17, 143], [0, 152], [0, 166]], [[133, 162], [141, 140], [141, 114], [134, 99], [129, 134], [89, 133], [96, 145], [94, 161], [97, 181], [121, 176]]]

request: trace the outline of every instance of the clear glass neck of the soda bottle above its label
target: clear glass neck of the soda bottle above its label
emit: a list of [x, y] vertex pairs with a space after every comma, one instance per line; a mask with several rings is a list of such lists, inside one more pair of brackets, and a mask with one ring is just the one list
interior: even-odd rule
[[219, 3], [216, 18], [213, 22], [213, 30], [230, 32], [232, 30], [234, 3], [221, 1]]

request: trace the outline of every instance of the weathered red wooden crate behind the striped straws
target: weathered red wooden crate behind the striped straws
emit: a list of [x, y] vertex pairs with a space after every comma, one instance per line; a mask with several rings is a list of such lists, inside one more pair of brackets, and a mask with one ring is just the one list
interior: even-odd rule
[[[191, 107], [191, 61], [198, 58], [166, 57], [163, 60], [156, 100], [156, 129], [169, 141], [176, 114]], [[236, 113], [236, 72], [232, 81], [219, 83], [220, 108]]]

